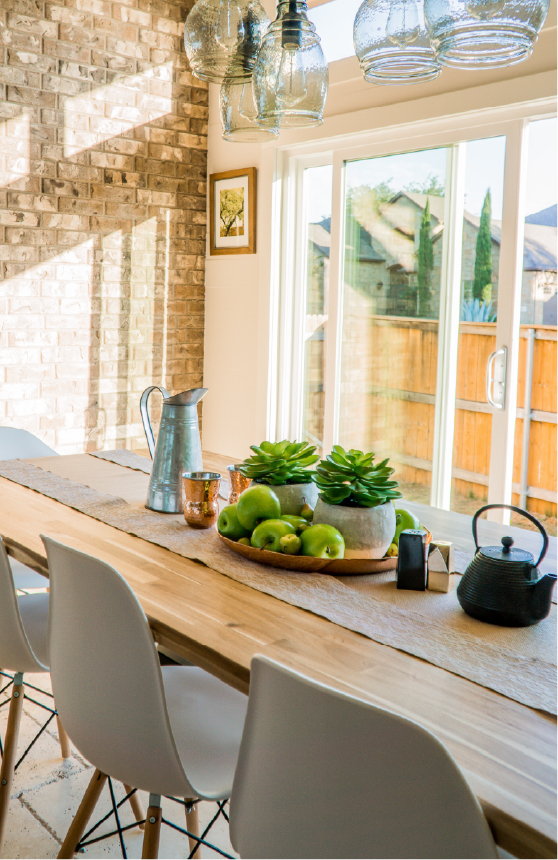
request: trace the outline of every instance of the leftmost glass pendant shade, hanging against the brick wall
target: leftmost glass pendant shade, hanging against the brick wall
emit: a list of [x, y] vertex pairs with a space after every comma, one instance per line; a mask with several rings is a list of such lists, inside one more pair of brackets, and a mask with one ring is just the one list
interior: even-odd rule
[[259, 0], [197, 0], [184, 26], [192, 73], [210, 83], [250, 78], [268, 25]]

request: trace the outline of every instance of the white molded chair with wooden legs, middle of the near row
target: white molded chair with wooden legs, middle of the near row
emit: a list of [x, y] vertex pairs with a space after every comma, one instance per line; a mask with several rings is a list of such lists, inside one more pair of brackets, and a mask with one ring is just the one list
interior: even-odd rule
[[156, 857], [161, 795], [230, 796], [247, 699], [195, 666], [161, 669], [123, 577], [52, 538], [43, 542], [54, 695], [73, 743], [97, 768], [59, 856], [73, 856], [108, 774], [150, 792], [143, 856]]

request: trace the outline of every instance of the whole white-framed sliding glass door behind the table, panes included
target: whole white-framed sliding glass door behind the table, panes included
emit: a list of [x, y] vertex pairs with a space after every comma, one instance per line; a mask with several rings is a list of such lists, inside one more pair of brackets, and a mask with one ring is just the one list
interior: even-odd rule
[[292, 156], [297, 262], [283, 289], [300, 343], [283, 426], [321, 454], [339, 443], [389, 457], [409, 500], [471, 513], [513, 493], [555, 517], [556, 207], [529, 201], [556, 120], [530, 125], [531, 155], [520, 117], [484, 135], [482, 123], [423, 133], [420, 148], [408, 133], [406, 151], [393, 136], [319, 163]]

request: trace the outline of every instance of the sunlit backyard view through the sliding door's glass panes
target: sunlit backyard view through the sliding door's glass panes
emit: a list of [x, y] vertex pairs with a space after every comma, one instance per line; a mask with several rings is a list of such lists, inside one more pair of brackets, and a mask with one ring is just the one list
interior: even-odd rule
[[[541, 517], [553, 534], [556, 124], [552, 118], [529, 125], [519, 371], [518, 378], [507, 381], [508, 391], [517, 386], [518, 392], [513, 502]], [[303, 437], [320, 454], [325, 434], [346, 448], [389, 457], [404, 497], [430, 503], [440, 299], [446, 289], [459, 291], [450, 506], [469, 514], [487, 498], [494, 411], [487, 400], [486, 366], [495, 349], [498, 308], [513, 300], [513, 285], [500, 282], [505, 158], [501, 135], [343, 163], [342, 316], [334, 353], [328, 341], [335, 274], [330, 271], [333, 167], [303, 171]], [[459, 160], [464, 189], [458, 183], [460, 190], [450, 199], [453, 159]], [[461, 225], [462, 246], [456, 249], [461, 275], [448, 284], [450, 225], [456, 223]], [[330, 331], [332, 337], [337, 340]], [[326, 363], [332, 354], [337, 355], [338, 381], [328, 392]], [[328, 372], [330, 385], [332, 379]], [[333, 429], [326, 426], [332, 420], [332, 397], [339, 418]]]

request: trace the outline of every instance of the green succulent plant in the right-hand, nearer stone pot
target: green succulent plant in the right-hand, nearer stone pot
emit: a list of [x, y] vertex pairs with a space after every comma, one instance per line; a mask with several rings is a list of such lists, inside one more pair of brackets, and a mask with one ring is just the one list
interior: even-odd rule
[[390, 481], [395, 469], [387, 465], [388, 460], [375, 466], [374, 456], [334, 445], [331, 454], [320, 461], [314, 476], [322, 501], [328, 505], [375, 508], [390, 499], [400, 499], [397, 481]]

